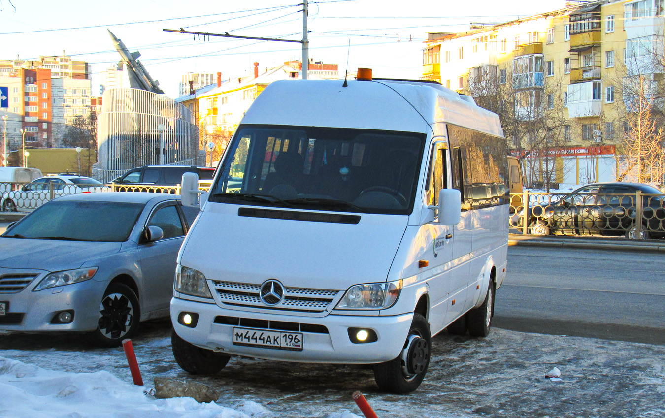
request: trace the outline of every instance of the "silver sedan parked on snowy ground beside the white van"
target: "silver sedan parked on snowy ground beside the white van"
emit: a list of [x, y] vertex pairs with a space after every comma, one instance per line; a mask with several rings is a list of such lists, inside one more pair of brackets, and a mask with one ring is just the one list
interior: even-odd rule
[[49, 201], [0, 235], [0, 330], [90, 332], [117, 346], [140, 321], [168, 316], [197, 213], [160, 193]]

